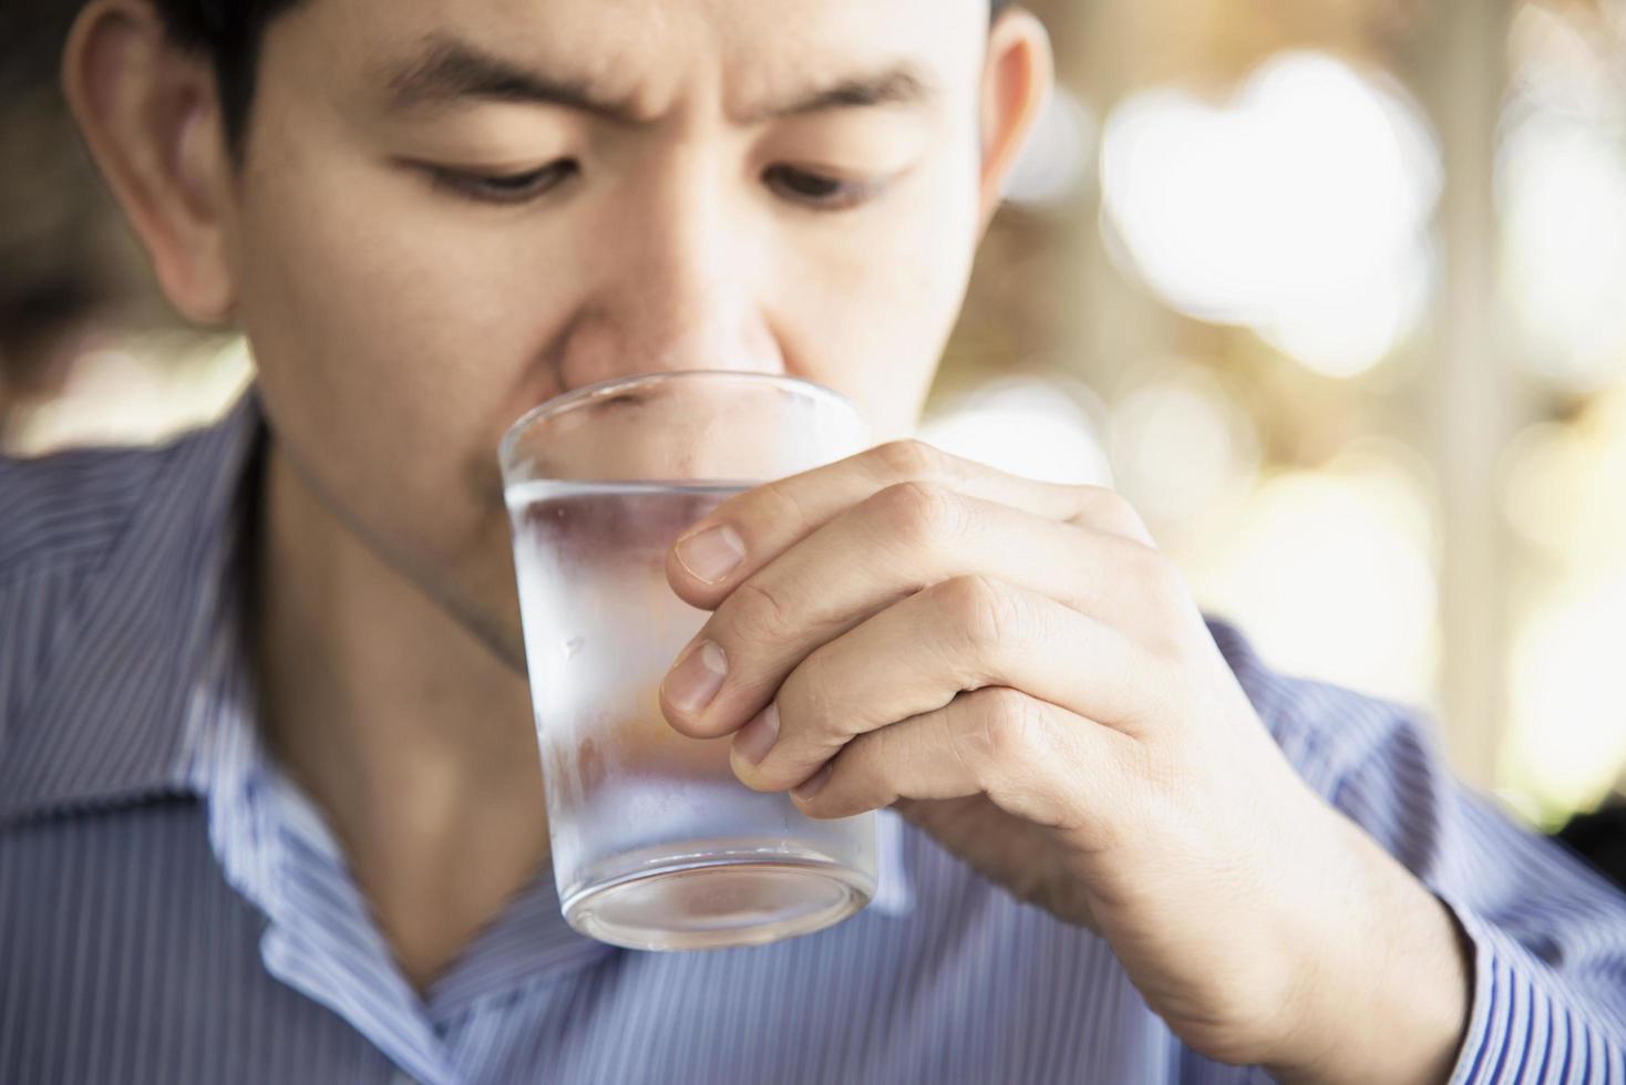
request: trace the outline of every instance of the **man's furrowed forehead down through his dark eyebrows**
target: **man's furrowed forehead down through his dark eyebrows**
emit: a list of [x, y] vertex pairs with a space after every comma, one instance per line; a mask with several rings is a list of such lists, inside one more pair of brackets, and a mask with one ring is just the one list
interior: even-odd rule
[[[924, 101], [976, 75], [985, 26], [985, 0], [351, 0], [335, 8], [348, 10], [346, 52], [359, 54], [369, 94], [384, 104], [413, 104], [459, 83], [501, 97], [498, 76], [507, 70], [646, 117], [706, 81], [740, 119], [815, 104], [810, 96], [820, 93], [852, 104]], [[525, 97], [525, 86], [514, 91]]]

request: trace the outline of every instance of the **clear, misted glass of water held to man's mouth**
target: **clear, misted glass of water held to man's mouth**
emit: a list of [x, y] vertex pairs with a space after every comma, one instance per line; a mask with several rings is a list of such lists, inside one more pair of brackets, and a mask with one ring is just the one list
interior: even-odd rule
[[863, 421], [818, 385], [670, 372], [580, 388], [502, 439], [520, 616], [566, 921], [633, 949], [756, 945], [875, 893], [875, 814], [813, 820], [691, 739], [659, 687], [706, 614], [667, 549], [724, 499], [847, 458]]

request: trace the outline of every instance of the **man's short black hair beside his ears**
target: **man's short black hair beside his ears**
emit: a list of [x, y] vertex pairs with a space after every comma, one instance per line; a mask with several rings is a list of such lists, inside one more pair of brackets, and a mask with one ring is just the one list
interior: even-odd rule
[[[254, 80], [260, 63], [265, 28], [278, 15], [306, 0], [154, 0], [169, 37], [205, 54], [215, 67], [220, 88], [221, 122], [233, 154], [242, 149], [254, 104]], [[1011, 0], [990, 0], [993, 15]]]

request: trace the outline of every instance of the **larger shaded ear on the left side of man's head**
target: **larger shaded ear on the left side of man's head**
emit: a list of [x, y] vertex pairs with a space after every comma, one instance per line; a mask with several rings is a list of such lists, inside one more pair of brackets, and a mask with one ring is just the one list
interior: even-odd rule
[[171, 304], [197, 323], [228, 320], [234, 164], [208, 58], [177, 47], [148, 0], [89, 0], [62, 89]]

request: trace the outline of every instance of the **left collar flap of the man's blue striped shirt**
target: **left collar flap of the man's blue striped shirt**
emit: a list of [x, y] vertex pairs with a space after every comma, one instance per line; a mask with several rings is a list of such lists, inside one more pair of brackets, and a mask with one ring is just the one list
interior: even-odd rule
[[0, 763], [0, 820], [187, 791], [189, 702], [231, 585], [262, 437], [249, 390], [216, 426], [128, 453], [163, 465], [117, 544], [73, 588], [47, 672], [24, 707], [29, 726]]

